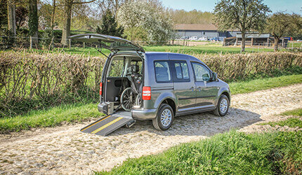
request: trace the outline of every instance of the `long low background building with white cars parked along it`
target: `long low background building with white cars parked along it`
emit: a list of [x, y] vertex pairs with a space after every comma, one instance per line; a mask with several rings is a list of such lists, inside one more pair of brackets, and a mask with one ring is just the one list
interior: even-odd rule
[[174, 29], [176, 30], [176, 38], [181, 38], [183, 36], [197, 36], [201, 38], [202, 36], [207, 36], [208, 38], [228, 38], [236, 36], [239, 31], [218, 31], [215, 25], [211, 24], [177, 24]]

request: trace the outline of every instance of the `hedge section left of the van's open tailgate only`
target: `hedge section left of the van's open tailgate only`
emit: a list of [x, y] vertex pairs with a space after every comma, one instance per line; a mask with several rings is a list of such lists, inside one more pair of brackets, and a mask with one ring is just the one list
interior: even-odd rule
[[0, 53], [0, 117], [58, 104], [96, 102], [103, 58]]

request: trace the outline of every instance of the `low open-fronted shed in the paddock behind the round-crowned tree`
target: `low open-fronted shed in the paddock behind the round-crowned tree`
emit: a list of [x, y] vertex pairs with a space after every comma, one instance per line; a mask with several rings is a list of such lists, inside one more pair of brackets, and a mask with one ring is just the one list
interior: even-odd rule
[[[280, 38], [278, 45], [283, 48], [287, 47], [288, 38]], [[242, 34], [237, 33], [236, 36], [225, 38], [223, 40], [223, 45], [241, 45]], [[250, 32], [246, 34], [245, 45], [263, 45], [263, 46], [273, 46], [275, 43], [275, 38], [271, 34], [260, 34], [258, 32]]]

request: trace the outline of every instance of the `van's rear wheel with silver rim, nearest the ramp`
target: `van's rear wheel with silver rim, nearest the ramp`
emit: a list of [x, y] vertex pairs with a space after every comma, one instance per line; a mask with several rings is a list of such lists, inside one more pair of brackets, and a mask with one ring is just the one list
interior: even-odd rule
[[[166, 118], [166, 120], [164, 119]], [[168, 130], [173, 124], [174, 113], [169, 104], [162, 104], [157, 111], [157, 116], [152, 120], [153, 126], [156, 130], [165, 131]]]

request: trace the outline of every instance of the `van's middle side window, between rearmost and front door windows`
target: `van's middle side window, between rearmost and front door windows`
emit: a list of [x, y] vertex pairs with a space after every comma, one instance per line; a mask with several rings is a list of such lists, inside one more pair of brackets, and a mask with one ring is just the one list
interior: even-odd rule
[[190, 81], [188, 64], [185, 61], [174, 61], [176, 81]]

